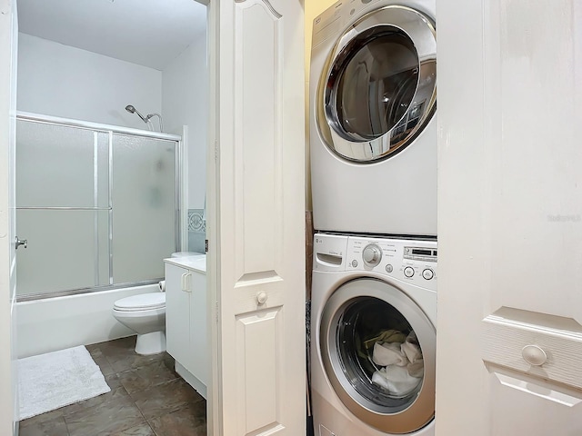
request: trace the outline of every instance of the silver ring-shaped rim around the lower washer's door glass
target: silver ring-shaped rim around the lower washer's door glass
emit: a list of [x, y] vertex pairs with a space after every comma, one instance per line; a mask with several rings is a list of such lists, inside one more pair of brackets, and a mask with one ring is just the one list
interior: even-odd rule
[[[405, 410], [390, 413], [364, 398], [346, 379], [336, 358], [336, 321], [347, 303], [357, 298], [374, 297], [393, 306], [416, 332], [425, 362], [425, 376], [417, 398]], [[322, 361], [336, 395], [359, 420], [379, 431], [403, 434], [425, 427], [435, 416], [435, 369], [437, 332], [425, 312], [388, 282], [358, 278], [342, 284], [327, 300], [322, 313], [319, 347]]]

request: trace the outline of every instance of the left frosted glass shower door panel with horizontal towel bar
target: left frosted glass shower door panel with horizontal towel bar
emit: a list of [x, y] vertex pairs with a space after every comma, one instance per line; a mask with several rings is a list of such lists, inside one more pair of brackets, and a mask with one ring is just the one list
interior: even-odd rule
[[108, 134], [17, 121], [17, 294], [108, 285]]

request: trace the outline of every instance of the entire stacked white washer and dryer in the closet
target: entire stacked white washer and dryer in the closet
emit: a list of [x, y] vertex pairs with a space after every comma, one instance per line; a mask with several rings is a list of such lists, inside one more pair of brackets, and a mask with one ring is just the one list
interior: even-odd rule
[[318, 436], [433, 436], [435, 0], [341, 0], [310, 74]]

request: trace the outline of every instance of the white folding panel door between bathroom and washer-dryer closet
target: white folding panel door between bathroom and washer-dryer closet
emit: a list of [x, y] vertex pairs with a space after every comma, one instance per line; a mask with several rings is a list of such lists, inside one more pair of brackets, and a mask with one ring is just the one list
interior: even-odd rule
[[219, 218], [209, 251], [216, 241], [213, 394], [222, 408], [214, 434], [298, 436], [306, 431], [303, 4], [217, 6]]

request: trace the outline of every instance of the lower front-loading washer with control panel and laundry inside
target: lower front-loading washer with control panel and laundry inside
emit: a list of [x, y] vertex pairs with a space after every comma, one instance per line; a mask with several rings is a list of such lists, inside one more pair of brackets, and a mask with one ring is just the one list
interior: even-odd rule
[[434, 436], [437, 242], [317, 233], [316, 436]]

